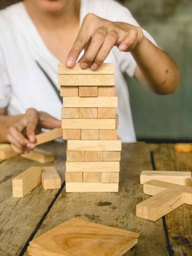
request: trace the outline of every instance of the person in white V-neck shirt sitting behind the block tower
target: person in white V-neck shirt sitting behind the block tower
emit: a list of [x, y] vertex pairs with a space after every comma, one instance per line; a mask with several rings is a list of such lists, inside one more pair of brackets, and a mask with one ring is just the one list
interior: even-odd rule
[[61, 126], [60, 62], [92, 70], [115, 64], [123, 142], [136, 141], [123, 73], [157, 94], [179, 85], [172, 58], [114, 0], [23, 0], [0, 11], [0, 38], [0, 142], [17, 153], [32, 150], [42, 128]]

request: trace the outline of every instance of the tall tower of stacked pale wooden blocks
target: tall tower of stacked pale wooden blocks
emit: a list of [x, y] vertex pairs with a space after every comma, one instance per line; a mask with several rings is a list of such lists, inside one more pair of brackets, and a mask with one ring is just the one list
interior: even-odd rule
[[117, 192], [121, 138], [117, 135], [114, 64], [82, 70], [58, 65], [67, 139], [66, 192]]

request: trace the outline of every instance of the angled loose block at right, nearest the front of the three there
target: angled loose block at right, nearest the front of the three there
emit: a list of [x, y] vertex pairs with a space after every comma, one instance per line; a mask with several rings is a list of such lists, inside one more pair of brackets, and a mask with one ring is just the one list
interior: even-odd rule
[[136, 205], [136, 216], [147, 220], [158, 220], [184, 202], [184, 193], [165, 189], [159, 194]]

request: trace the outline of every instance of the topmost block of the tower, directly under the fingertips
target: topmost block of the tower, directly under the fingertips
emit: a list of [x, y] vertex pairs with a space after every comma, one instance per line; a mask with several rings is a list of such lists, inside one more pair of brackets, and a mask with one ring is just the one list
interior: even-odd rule
[[113, 63], [103, 63], [100, 65], [98, 70], [91, 70], [89, 67], [83, 70], [80, 67], [80, 63], [76, 63], [73, 67], [66, 67], [64, 63], [58, 64], [58, 74], [114, 74], [114, 64]]

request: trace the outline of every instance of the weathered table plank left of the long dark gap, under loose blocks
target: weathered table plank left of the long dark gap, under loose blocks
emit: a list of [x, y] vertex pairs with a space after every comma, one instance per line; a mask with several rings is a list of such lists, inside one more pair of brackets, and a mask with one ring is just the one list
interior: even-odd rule
[[[55, 167], [64, 180], [66, 143], [51, 142], [39, 146], [55, 154]], [[12, 178], [30, 166], [51, 166], [40, 164], [23, 157], [15, 157], [0, 164], [0, 255], [17, 256], [38, 229], [42, 218], [56, 200], [60, 189], [44, 190], [39, 184], [24, 198], [13, 198]], [[22, 254], [21, 254], [22, 255]]]

